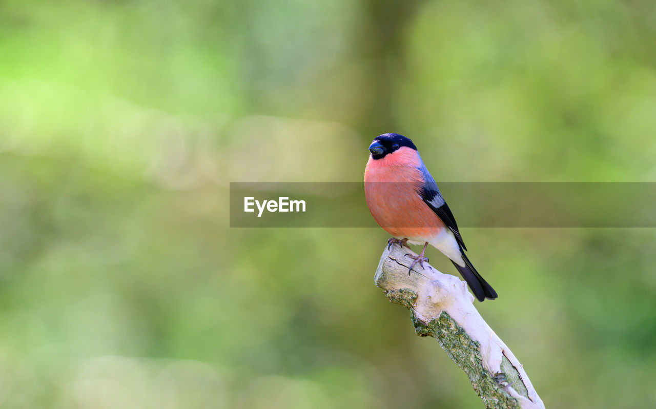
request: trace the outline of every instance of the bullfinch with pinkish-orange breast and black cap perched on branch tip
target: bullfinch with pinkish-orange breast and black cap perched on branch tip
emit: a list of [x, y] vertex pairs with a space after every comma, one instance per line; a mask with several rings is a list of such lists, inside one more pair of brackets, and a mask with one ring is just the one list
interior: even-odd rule
[[392, 234], [388, 246], [422, 244], [424, 249], [415, 259], [423, 268], [426, 246], [430, 244], [451, 259], [476, 299], [497, 298], [497, 292], [483, 280], [469, 261], [453, 213], [440, 194], [435, 179], [417, 152], [412, 140], [398, 133], [380, 135], [369, 146], [365, 168], [367, 206], [376, 222]]

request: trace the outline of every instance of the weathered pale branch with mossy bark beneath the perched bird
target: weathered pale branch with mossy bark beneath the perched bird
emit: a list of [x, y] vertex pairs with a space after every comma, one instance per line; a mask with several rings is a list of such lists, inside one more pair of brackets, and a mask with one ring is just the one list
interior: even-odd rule
[[[474, 296], [459, 277], [417, 264], [410, 249], [385, 248], [375, 284], [388, 299], [410, 310], [415, 332], [432, 336], [469, 377], [486, 408], [544, 408], [522, 364], [474, 307]], [[489, 302], [489, 301], [488, 301]]]

